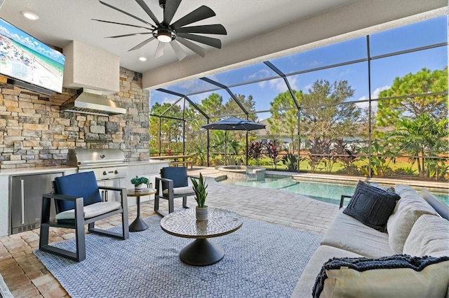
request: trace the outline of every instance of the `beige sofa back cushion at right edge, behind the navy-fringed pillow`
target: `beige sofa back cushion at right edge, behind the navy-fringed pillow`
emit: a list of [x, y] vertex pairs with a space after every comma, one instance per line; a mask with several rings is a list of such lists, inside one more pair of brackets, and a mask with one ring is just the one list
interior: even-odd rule
[[403, 253], [418, 257], [449, 255], [449, 221], [435, 215], [422, 215], [413, 225]]

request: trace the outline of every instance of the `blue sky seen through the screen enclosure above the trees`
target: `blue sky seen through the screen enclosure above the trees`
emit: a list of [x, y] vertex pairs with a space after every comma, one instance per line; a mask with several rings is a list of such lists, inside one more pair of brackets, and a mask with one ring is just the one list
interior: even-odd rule
[[[437, 17], [404, 27], [382, 31], [370, 35], [370, 56], [376, 57], [391, 52], [399, 52], [420, 48], [426, 45], [445, 43], [448, 41], [448, 20], [447, 17]], [[316, 69], [332, 64], [354, 61], [357, 59], [366, 59], [366, 37], [356, 38], [350, 41], [344, 41], [334, 45], [328, 45], [323, 48], [300, 52], [287, 57], [270, 60], [274, 66], [283, 71], [283, 73], [295, 73], [308, 69]], [[431, 70], [443, 69], [448, 65], [448, 48], [438, 47], [419, 52], [410, 52], [392, 57], [373, 59], [371, 61], [371, 97], [377, 98], [380, 91], [388, 89], [394, 78], [405, 76], [407, 73], [416, 73], [423, 67]], [[218, 73], [208, 78], [217, 80], [223, 85], [234, 85], [246, 83], [262, 78], [271, 78], [277, 76], [274, 71], [269, 69], [263, 63], [246, 66], [241, 69], [234, 69], [225, 73]], [[335, 80], [347, 80], [349, 85], [356, 91], [350, 101], [360, 101], [368, 99], [368, 62], [358, 62], [338, 66], [321, 71], [312, 71], [298, 75], [288, 76], [290, 86], [295, 90], [302, 90], [308, 93], [309, 87], [314, 81], [319, 79], [329, 80], [333, 83]], [[214, 88], [202, 80], [192, 80], [167, 87], [182, 94], [192, 94], [200, 90], [210, 90]], [[286, 92], [287, 87], [281, 78], [267, 80], [250, 85], [231, 87], [234, 94], [253, 95], [256, 102], [256, 110], [264, 111], [269, 109], [269, 102], [279, 93]], [[189, 98], [195, 102], [208, 97], [211, 92], [192, 95]], [[224, 101], [229, 99], [229, 94], [224, 91], [215, 91], [222, 95]], [[151, 104], [154, 102], [173, 103], [178, 97], [173, 97], [163, 92], [151, 92]], [[366, 106], [367, 104], [360, 104]], [[259, 120], [269, 117], [269, 113], [260, 113]]]

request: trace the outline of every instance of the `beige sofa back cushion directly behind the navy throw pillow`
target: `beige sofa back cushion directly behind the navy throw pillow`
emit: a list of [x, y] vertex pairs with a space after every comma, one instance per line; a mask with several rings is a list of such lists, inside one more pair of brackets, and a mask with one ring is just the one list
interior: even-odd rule
[[397, 254], [403, 252], [404, 243], [416, 220], [423, 214], [437, 213], [409, 185], [396, 185], [395, 190], [401, 199], [388, 219], [387, 232], [391, 250]]

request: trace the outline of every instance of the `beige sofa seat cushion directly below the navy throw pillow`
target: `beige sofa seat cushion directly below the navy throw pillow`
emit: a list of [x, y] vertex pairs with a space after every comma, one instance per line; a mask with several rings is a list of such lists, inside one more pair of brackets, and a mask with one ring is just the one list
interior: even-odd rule
[[387, 233], [363, 225], [355, 218], [340, 211], [324, 234], [321, 244], [334, 246], [363, 257], [394, 255]]

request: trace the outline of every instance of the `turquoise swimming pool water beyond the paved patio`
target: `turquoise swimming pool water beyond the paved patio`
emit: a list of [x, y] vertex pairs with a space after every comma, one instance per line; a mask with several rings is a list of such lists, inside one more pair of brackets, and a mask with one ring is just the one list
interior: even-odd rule
[[[312, 199], [325, 201], [331, 204], [340, 204], [342, 194], [353, 194], [356, 185], [344, 185], [337, 183], [324, 183], [309, 180], [294, 180], [290, 176], [267, 175], [264, 180], [237, 180], [226, 179], [220, 183], [230, 185], [243, 185], [250, 187], [269, 188], [272, 190], [286, 190], [295, 194], [302, 194]], [[448, 193], [432, 192], [444, 204], [449, 206], [449, 190]]]

